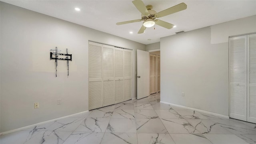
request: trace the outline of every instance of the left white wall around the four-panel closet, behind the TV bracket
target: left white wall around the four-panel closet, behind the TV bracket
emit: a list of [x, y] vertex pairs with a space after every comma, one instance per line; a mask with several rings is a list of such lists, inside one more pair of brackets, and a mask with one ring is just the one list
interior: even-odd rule
[[[0, 2], [0, 132], [88, 110], [88, 40], [133, 49], [133, 95], [136, 53], [146, 45]], [[72, 54], [58, 61], [55, 77], [50, 49]], [[57, 105], [57, 99], [62, 104]], [[39, 102], [40, 108], [34, 109]]]

